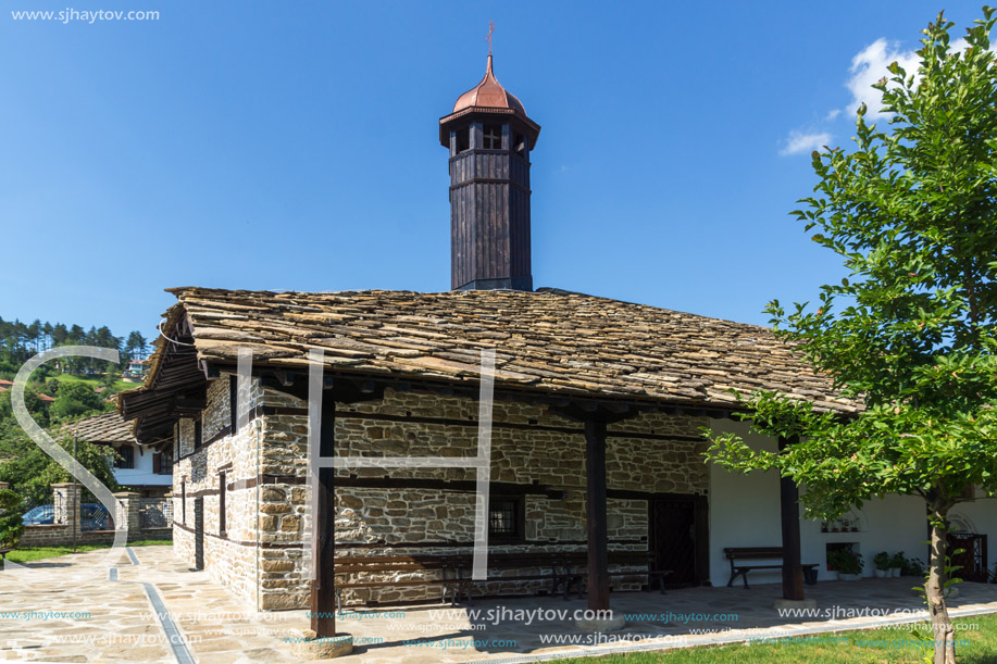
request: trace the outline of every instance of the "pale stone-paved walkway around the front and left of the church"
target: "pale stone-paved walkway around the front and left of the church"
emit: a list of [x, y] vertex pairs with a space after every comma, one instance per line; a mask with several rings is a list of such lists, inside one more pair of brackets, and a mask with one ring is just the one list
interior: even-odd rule
[[[253, 612], [207, 573], [190, 572], [173, 557], [171, 548], [132, 551], [139, 564], [124, 556], [111, 575], [117, 580], [110, 580], [107, 569], [100, 576], [71, 579], [74, 571], [102, 560], [105, 552], [100, 551], [32, 563], [34, 569], [27, 575], [0, 572], [0, 661], [183, 661], [184, 651], [171, 647], [144, 584], [161, 599], [198, 662], [299, 661], [284, 639], [308, 628], [304, 611]], [[812, 617], [780, 617], [772, 609], [776, 586], [690, 588], [665, 596], [619, 593], [612, 596], [612, 606], [631, 614], [627, 625], [601, 635], [600, 642], [574, 626], [572, 614], [585, 609], [584, 600], [577, 599], [479, 600], [470, 610], [357, 607], [338, 621], [339, 629], [358, 641], [354, 654], [339, 661], [534, 661], [621, 648], [661, 649], [871, 627], [920, 617], [912, 613], [922, 605], [910, 589], [914, 581], [863, 579], [807, 587], [808, 597], [817, 600], [822, 612]], [[954, 616], [997, 612], [997, 586], [962, 584], [960, 591], [960, 598], [950, 602]], [[51, 612], [89, 613], [53, 616]], [[552, 643], [551, 637], [576, 641]]]

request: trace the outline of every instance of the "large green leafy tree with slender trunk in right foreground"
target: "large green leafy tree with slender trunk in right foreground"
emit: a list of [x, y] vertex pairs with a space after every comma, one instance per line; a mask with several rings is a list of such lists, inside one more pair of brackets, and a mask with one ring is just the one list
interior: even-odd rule
[[864, 408], [840, 417], [756, 393], [753, 429], [799, 442], [769, 453], [720, 435], [708, 452], [730, 469], [794, 478], [814, 517], [889, 493], [923, 498], [936, 664], [956, 661], [949, 511], [997, 490], [997, 71], [994, 10], [983, 14], [961, 51], [942, 14], [923, 30], [918, 71], [894, 63], [874, 86], [887, 126], [859, 109], [856, 148], [814, 152], [820, 181], [795, 213], [850, 275], [822, 287], [815, 308], [772, 302], [773, 326]]

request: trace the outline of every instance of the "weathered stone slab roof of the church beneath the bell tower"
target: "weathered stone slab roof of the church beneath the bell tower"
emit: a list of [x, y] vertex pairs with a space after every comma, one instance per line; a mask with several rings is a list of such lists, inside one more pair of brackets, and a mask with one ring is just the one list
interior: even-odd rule
[[[176, 288], [167, 318], [186, 321], [198, 360], [304, 368], [310, 349], [352, 374], [478, 379], [496, 349], [496, 386], [731, 408], [776, 390], [855, 412], [772, 330], [587, 295], [471, 290], [269, 292]], [[169, 328], [167, 328], [169, 329]], [[153, 356], [154, 381], [163, 349]]]

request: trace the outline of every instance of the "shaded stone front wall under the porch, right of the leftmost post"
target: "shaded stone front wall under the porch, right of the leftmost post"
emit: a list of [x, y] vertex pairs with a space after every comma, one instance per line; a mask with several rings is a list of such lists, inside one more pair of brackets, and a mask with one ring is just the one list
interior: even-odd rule
[[[384, 402], [341, 405], [336, 413], [338, 455], [475, 456], [476, 400], [425, 392], [388, 390]], [[541, 406], [496, 401], [491, 433], [491, 480], [563, 489], [564, 497], [525, 497], [525, 541], [491, 542], [495, 552], [585, 551], [585, 440], [579, 423]], [[390, 419], [387, 419], [390, 418]], [[611, 425], [607, 438], [607, 480], [611, 489], [706, 494], [709, 475], [697, 455], [705, 422], [693, 417], [645, 414]], [[627, 436], [636, 434], [640, 437]], [[669, 436], [671, 439], [649, 438]], [[675, 439], [677, 438], [677, 440]], [[440, 483], [472, 480], [461, 468], [339, 469], [341, 477], [412, 477]], [[474, 494], [428, 489], [337, 489], [337, 547], [342, 554], [469, 553], [473, 539]], [[610, 499], [607, 505], [610, 551], [646, 551], [645, 500]], [[425, 544], [439, 542], [439, 548]], [[462, 542], [449, 547], [446, 542]], [[407, 548], [406, 544], [419, 544]], [[349, 549], [345, 550], [344, 544]], [[498, 572], [496, 576], [515, 571]], [[544, 581], [478, 584], [482, 592], [534, 593]], [[635, 589], [631, 582], [619, 589]], [[371, 588], [346, 590], [348, 602], [394, 602], [438, 597], [438, 589]]]

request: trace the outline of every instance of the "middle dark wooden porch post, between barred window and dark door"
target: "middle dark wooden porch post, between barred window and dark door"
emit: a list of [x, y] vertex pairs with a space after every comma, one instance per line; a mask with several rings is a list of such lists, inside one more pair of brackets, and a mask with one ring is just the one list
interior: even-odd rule
[[588, 607], [609, 609], [609, 550], [606, 527], [606, 423], [585, 421], [586, 513], [588, 521]]

